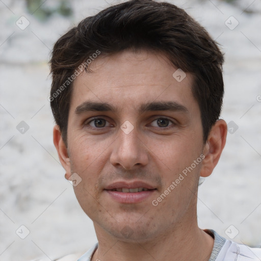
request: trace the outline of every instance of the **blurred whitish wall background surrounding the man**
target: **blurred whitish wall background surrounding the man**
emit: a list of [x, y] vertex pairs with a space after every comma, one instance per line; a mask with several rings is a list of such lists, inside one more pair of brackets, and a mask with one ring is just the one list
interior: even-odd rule
[[[96, 243], [53, 145], [48, 59], [69, 28], [120, 2], [0, 0], [0, 260], [50, 260]], [[261, 1], [168, 2], [200, 22], [225, 53], [229, 133], [218, 166], [199, 187], [199, 226], [260, 247]]]

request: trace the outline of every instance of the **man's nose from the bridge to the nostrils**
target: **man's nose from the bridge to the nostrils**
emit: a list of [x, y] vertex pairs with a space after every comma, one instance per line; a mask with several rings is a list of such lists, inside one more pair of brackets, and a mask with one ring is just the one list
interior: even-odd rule
[[130, 133], [124, 133], [119, 129], [118, 137], [113, 143], [110, 162], [117, 168], [137, 169], [148, 164], [147, 152], [135, 128]]

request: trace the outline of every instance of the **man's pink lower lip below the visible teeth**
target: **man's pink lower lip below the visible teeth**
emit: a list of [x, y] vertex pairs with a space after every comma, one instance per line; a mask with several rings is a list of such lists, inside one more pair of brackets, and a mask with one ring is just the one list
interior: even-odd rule
[[119, 203], [138, 203], [150, 197], [155, 190], [141, 191], [141, 192], [118, 192], [106, 190], [107, 193]]

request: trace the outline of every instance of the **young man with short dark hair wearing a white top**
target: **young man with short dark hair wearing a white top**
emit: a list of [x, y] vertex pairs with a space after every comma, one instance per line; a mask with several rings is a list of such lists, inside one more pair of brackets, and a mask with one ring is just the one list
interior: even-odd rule
[[54, 144], [98, 243], [87, 260], [260, 260], [197, 224], [225, 146], [223, 55], [184, 10], [133, 0], [87, 17], [51, 57]]

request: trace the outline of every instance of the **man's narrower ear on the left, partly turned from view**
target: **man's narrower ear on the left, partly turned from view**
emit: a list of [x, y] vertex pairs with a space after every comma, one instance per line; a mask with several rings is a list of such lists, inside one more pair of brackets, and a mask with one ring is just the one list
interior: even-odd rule
[[54, 126], [53, 140], [59, 155], [60, 162], [66, 171], [65, 178], [69, 179], [71, 176], [70, 158], [68, 156], [67, 147], [63, 141], [62, 134], [58, 125]]

